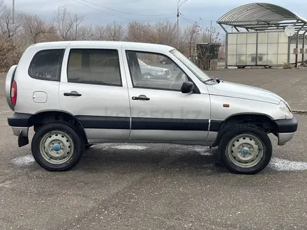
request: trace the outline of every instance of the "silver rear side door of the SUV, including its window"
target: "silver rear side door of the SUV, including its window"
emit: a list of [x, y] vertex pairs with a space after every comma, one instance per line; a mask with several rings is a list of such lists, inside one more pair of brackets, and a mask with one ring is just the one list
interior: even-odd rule
[[63, 57], [61, 110], [83, 125], [89, 142], [128, 139], [130, 106], [120, 49], [69, 45]]

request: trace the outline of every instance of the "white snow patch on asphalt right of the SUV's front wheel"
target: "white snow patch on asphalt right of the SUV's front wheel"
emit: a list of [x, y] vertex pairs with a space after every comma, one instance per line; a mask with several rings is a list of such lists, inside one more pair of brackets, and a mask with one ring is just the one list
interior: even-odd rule
[[271, 162], [269, 163], [269, 167], [277, 171], [304, 171], [307, 170], [307, 162], [272, 158]]

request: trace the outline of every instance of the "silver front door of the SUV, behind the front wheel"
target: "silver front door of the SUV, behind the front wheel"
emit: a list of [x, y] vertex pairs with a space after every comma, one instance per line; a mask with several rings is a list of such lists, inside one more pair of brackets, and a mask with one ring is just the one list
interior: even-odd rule
[[[193, 93], [181, 93], [182, 84], [187, 80], [193, 82], [193, 79], [181, 68], [174, 70], [178, 65], [172, 60], [171, 64], [161, 64], [160, 59], [167, 57], [163, 54], [129, 49], [122, 52], [130, 100], [130, 139], [206, 141], [209, 95], [200, 93], [197, 87]], [[147, 73], [142, 72], [138, 59], [146, 63], [147, 68], [152, 68], [151, 74], [159, 75], [159, 78], [144, 77]], [[172, 77], [169, 78], [170, 73]]]

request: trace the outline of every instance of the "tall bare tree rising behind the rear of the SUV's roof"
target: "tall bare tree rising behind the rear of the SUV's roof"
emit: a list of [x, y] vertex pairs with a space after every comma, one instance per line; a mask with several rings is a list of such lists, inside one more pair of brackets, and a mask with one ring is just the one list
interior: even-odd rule
[[83, 17], [72, 15], [66, 6], [60, 6], [57, 9], [57, 15], [54, 22], [63, 40], [77, 39], [77, 29], [80, 26]]

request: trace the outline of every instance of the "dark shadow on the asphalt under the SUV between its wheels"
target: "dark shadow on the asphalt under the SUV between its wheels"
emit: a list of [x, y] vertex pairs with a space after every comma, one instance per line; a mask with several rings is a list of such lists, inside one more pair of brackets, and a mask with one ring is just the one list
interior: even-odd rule
[[[130, 149], [129, 149], [130, 148]], [[180, 146], [150, 144], [93, 146], [83, 155], [76, 170], [103, 169], [112, 164], [132, 171], [155, 171], [158, 169], [205, 171], [229, 173], [223, 165], [216, 164], [217, 149], [204, 146]]]

